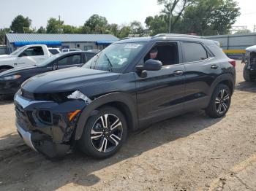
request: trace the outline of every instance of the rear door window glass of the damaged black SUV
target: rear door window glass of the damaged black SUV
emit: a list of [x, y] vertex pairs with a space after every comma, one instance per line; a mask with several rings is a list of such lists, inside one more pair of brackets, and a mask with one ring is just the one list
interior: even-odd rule
[[183, 52], [186, 63], [203, 61], [208, 58], [206, 49], [202, 46], [202, 44], [196, 42], [184, 42]]

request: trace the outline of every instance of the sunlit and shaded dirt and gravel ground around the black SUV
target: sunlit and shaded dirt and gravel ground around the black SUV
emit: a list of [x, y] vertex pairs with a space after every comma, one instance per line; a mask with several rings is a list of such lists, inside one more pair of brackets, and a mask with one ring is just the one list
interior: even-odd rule
[[0, 190], [256, 190], [256, 83], [244, 82], [242, 67], [226, 117], [195, 111], [159, 122], [106, 160], [31, 151], [16, 133], [12, 101], [1, 101]]

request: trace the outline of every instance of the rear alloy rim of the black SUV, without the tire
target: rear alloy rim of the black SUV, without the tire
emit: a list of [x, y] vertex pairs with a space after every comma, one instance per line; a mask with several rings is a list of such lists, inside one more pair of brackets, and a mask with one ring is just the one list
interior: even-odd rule
[[227, 111], [230, 105], [230, 95], [227, 90], [220, 90], [215, 99], [215, 108], [218, 114], [223, 114]]

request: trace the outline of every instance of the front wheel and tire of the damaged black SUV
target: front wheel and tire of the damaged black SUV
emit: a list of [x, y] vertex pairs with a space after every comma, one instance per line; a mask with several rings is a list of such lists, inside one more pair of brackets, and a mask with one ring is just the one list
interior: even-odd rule
[[80, 150], [94, 158], [116, 154], [127, 138], [127, 122], [116, 108], [105, 106], [89, 118], [78, 141]]

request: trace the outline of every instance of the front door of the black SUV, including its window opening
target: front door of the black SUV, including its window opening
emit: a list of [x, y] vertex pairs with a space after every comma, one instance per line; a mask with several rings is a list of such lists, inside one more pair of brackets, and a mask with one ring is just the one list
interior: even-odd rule
[[184, 111], [184, 64], [181, 61], [179, 42], [159, 42], [151, 48], [157, 49], [155, 60], [163, 66], [159, 71], [146, 71], [147, 77], [136, 75], [138, 118], [140, 125], [165, 120]]

